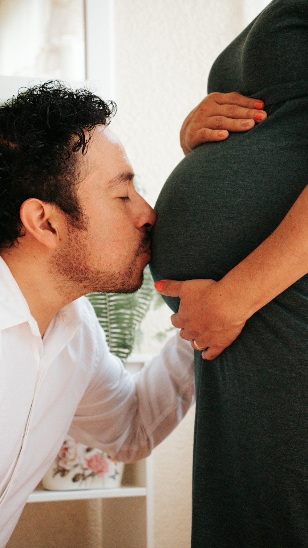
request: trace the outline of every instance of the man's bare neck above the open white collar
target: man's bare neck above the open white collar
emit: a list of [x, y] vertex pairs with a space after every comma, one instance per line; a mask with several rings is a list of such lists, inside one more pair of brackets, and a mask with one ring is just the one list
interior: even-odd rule
[[56, 313], [72, 302], [74, 297], [62, 294], [55, 288], [49, 272], [48, 257], [36, 253], [35, 249], [19, 246], [4, 249], [0, 255], [24, 295], [43, 337]]

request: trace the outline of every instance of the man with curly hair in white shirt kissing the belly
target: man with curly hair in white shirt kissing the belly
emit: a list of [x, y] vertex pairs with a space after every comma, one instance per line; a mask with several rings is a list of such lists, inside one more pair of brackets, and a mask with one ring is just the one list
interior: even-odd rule
[[[150, 260], [156, 216], [107, 128], [115, 109], [59, 82], [0, 107], [1, 547], [67, 432], [133, 461], [194, 401], [188, 341], [176, 335], [131, 377], [84, 297], [137, 290]], [[206, 140], [228, 136], [208, 132]]]

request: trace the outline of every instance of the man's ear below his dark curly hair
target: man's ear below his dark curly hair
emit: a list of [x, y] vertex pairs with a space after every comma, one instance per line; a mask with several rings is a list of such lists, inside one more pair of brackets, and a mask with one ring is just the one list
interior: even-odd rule
[[48, 202], [28, 198], [20, 207], [20, 219], [26, 231], [39, 243], [54, 249], [59, 241], [59, 211]]

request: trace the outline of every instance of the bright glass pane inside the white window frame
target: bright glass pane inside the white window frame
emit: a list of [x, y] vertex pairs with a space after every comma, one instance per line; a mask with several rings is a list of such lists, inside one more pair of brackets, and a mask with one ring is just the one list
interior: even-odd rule
[[0, 0], [0, 74], [85, 79], [84, 0]]

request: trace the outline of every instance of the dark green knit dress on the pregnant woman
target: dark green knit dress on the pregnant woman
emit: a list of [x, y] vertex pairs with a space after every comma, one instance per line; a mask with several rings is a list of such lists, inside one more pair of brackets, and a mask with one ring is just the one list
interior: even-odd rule
[[[219, 280], [303, 191], [307, 55], [307, 0], [274, 0], [214, 62], [208, 93], [261, 99], [268, 119], [197, 147], [172, 172], [155, 207], [155, 281]], [[307, 548], [308, 276], [216, 359], [195, 352], [195, 375], [191, 546]]]

